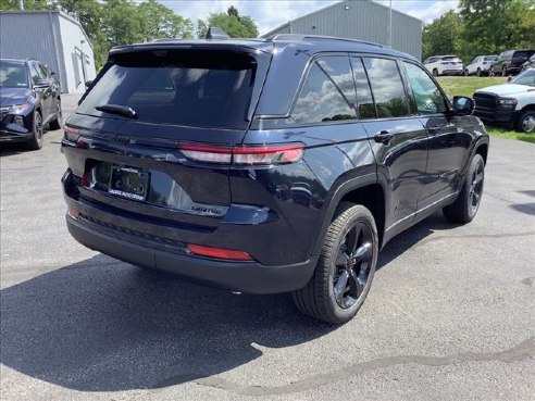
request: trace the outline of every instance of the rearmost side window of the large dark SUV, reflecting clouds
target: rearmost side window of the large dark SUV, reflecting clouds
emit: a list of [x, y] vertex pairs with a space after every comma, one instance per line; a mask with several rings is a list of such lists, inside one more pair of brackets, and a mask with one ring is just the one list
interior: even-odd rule
[[296, 123], [353, 120], [354, 99], [349, 58], [320, 59], [309, 70], [291, 116]]

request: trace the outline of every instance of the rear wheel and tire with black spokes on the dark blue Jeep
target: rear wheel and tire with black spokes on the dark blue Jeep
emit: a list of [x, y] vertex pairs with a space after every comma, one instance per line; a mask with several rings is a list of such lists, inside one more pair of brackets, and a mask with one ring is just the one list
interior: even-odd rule
[[377, 253], [378, 236], [372, 213], [362, 205], [340, 203], [314, 274], [304, 288], [293, 293], [296, 306], [329, 324], [349, 322], [370, 290]]

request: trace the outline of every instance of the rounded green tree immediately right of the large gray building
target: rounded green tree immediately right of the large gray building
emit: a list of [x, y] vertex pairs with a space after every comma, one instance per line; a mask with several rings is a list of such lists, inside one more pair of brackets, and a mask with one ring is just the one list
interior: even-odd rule
[[422, 34], [422, 53], [427, 59], [435, 54], [460, 54], [462, 50], [462, 21], [455, 11], [426, 24]]

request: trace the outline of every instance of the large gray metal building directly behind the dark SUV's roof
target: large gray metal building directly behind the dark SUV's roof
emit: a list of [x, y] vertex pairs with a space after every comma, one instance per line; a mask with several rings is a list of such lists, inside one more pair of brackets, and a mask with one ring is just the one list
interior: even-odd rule
[[347, 0], [287, 22], [263, 35], [328, 35], [374, 41], [422, 58], [422, 21], [372, 0]]

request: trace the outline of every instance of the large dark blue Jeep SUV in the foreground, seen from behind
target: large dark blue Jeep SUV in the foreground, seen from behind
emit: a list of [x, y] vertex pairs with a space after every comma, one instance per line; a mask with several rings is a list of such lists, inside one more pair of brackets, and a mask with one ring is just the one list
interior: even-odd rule
[[128, 263], [293, 291], [345, 323], [395, 235], [440, 209], [474, 218], [488, 136], [472, 109], [413, 57], [356, 40], [116, 47], [64, 127], [67, 227]]

